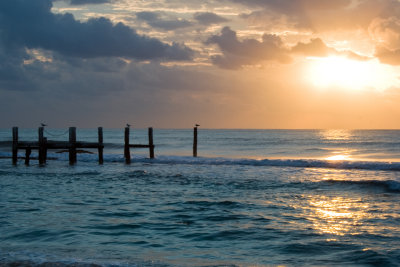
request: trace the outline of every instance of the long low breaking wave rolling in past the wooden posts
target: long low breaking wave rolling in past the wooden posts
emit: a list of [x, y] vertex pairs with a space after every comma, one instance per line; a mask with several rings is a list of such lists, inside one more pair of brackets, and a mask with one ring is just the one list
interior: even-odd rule
[[[22, 160], [24, 155], [18, 155]], [[78, 163], [96, 162], [94, 154], [78, 154]], [[0, 158], [10, 159], [11, 153], [0, 152]], [[37, 153], [32, 153], [31, 159], [37, 160]], [[68, 161], [68, 153], [49, 153], [49, 160]], [[124, 162], [121, 154], [105, 154], [104, 162]], [[244, 166], [265, 166], [265, 167], [298, 167], [298, 168], [329, 168], [343, 170], [374, 170], [374, 171], [400, 171], [400, 162], [382, 161], [332, 161], [323, 159], [250, 159], [250, 158], [222, 158], [222, 157], [190, 157], [190, 156], [157, 156], [149, 159], [143, 155], [134, 155], [132, 162], [157, 163], [157, 164], [190, 164], [190, 165], [244, 165]]]

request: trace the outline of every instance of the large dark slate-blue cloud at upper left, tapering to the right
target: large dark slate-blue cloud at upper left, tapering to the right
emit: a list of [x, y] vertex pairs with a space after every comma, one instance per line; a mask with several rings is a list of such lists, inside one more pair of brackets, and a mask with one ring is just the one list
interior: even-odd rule
[[123, 23], [114, 25], [104, 17], [80, 22], [69, 13], [53, 14], [51, 8], [50, 0], [0, 1], [0, 41], [80, 58], [189, 60], [193, 55], [184, 45], [139, 35]]

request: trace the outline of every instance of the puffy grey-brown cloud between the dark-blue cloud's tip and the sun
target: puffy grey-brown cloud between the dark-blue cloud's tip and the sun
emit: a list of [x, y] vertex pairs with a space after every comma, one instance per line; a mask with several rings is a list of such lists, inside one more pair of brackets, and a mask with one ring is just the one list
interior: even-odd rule
[[237, 69], [264, 60], [290, 61], [287, 49], [276, 35], [265, 34], [261, 42], [255, 39], [239, 41], [235, 31], [224, 27], [220, 35], [211, 36], [206, 44], [218, 45], [223, 55], [214, 56], [212, 61], [222, 68]]

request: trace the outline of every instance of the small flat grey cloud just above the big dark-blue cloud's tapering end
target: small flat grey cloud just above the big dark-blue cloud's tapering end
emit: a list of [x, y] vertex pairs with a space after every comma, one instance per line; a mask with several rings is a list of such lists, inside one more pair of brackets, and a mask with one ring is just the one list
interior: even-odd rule
[[192, 26], [192, 23], [185, 19], [164, 19], [161, 17], [163, 13], [142, 11], [136, 13], [136, 17], [144, 20], [151, 27], [162, 29], [165, 31], [173, 31], [176, 29], [187, 28]]

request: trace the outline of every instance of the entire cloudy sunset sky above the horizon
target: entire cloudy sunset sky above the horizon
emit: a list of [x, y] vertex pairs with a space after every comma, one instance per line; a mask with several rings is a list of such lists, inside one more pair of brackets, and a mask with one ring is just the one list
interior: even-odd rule
[[0, 127], [400, 129], [398, 0], [1, 0]]

